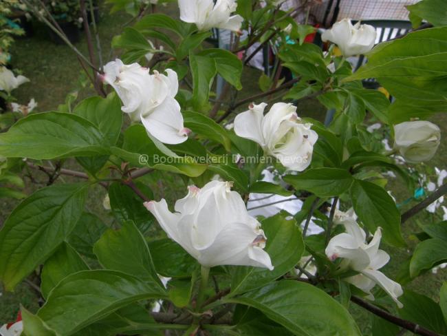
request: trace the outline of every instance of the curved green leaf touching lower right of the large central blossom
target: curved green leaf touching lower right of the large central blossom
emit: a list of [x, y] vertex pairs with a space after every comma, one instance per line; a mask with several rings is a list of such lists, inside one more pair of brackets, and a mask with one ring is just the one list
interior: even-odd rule
[[232, 295], [265, 286], [294, 268], [304, 252], [303, 236], [295, 220], [281, 214], [261, 222], [267, 237], [265, 251], [270, 255], [273, 271], [259, 267], [237, 266], [232, 275]]

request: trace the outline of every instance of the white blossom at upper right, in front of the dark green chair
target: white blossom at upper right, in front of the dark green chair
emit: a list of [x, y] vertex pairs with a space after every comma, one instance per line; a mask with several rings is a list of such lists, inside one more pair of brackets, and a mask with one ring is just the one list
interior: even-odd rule
[[372, 25], [353, 25], [351, 19], [342, 19], [325, 30], [321, 35], [323, 42], [331, 41], [338, 45], [343, 56], [366, 54], [375, 44], [375, 28]]

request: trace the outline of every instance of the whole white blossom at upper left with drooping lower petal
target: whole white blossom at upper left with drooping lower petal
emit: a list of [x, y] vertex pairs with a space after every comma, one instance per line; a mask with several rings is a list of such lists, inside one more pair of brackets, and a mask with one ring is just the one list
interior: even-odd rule
[[122, 112], [133, 121], [140, 120], [146, 131], [167, 144], [184, 143], [189, 129], [184, 127], [180, 105], [175, 100], [179, 83], [177, 73], [166, 69], [166, 75], [138, 63], [124, 65], [120, 59], [107, 63], [102, 77], [115, 89], [124, 106]]

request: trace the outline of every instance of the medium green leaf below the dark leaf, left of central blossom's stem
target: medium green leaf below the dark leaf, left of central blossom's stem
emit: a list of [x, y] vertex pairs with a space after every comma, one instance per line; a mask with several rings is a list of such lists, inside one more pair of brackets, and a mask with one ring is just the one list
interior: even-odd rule
[[105, 269], [122, 271], [162, 287], [146, 240], [131, 220], [119, 230], [105, 231], [93, 251]]

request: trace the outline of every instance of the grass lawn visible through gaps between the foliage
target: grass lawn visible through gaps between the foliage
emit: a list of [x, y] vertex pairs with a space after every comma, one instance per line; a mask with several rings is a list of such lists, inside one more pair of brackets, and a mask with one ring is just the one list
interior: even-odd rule
[[[173, 16], [177, 15], [177, 8], [170, 5], [163, 9], [166, 14]], [[113, 59], [111, 53], [110, 41], [113, 36], [119, 34], [122, 30], [121, 26], [127, 22], [129, 17], [126, 14], [109, 14], [108, 8], [102, 8], [101, 19], [98, 25], [100, 37], [102, 41], [102, 56], [105, 61]], [[85, 38], [81, 39], [80, 43], [76, 46], [81, 52], [87, 54]], [[50, 111], [56, 109], [58, 105], [64, 103], [67, 93], [78, 90], [81, 86], [80, 83], [84, 81], [84, 76], [80, 71], [80, 66], [74, 56], [72, 50], [69, 50], [65, 45], [55, 45], [47, 37], [47, 30], [42, 25], [36, 26], [36, 34], [32, 38], [20, 39], [14, 45], [12, 50], [13, 65], [20, 69], [25, 76], [30, 78], [31, 82], [22, 85], [18, 90], [14, 91], [14, 95], [17, 96], [20, 103], [27, 103], [32, 97], [39, 103], [39, 111]], [[260, 76], [258, 70], [248, 68], [242, 78], [243, 90], [239, 92], [239, 98], [245, 98], [251, 96], [254, 92], [258, 92], [258, 78]], [[86, 96], [94, 94], [91, 87], [83, 87], [79, 91], [78, 101]], [[243, 107], [241, 107], [243, 108]], [[298, 114], [300, 116], [309, 116], [323, 121], [325, 115], [325, 109], [318, 101], [307, 100], [302, 101], [298, 105]], [[433, 118], [433, 121], [441, 127], [442, 134], [447, 134], [447, 116], [439, 115]], [[427, 162], [427, 165], [431, 167], [446, 167], [446, 159], [444, 153], [447, 149], [447, 141], [442, 140], [441, 147], [437, 151], [437, 155], [433, 160]], [[69, 167], [76, 169], [75, 162], [68, 162]], [[159, 198], [171, 198], [175, 199], [179, 196], [183, 196], [184, 183], [180, 182], [181, 179], [176, 179], [176, 185], [179, 185], [178, 189], [166, 188], [163, 185], [163, 181], [168, 178], [168, 174], [157, 172], [153, 177], [157, 180], [155, 185], [155, 194]], [[45, 175], [42, 173], [36, 174], [36, 179], [40, 181], [45, 180]], [[65, 180], [73, 180], [65, 178]], [[27, 180], [28, 181], [28, 180]], [[43, 185], [39, 185], [42, 187]], [[28, 183], [26, 192], [31, 193], [36, 189], [35, 185]], [[406, 200], [410, 194], [406, 190], [404, 185], [398, 180], [392, 180], [389, 182], [389, 189], [393, 191], [393, 195], [397, 197], [397, 203]], [[104, 189], [100, 187], [93, 189], [89, 193], [89, 200], [87, 202], [87, 209], [93, 213], [99, 214], [104, 218], [105, 222], [111, 222], [109, 215], [102, 209], [101, 202], [105, 196]], [[0, 225], [6, 220], [9, 213], [14, 209], [18, 202], [12, 200], [6, 200], [0, 198]], [[411, 204], [408, 204], [409, 207]], [[417, 240], [413, 233], [420, 231], [417, 228], [417, 222], [422, 224], [429, 224], [441, 220], [441, 218], [433, 218], [432, 215], [426, 211], [422, 211], [414, 219], [409, 220], [402, 226], [402, 231], [406, 242], [408, 242], [408, 249], [394, 249], [391, 246], [382, 245], [382, 248], [389, 251], [391, 254], [391, 262], [384, 268], [384, 273], [395, 277], [400, 265], [406, 260], [412, 253]], [[421, 277], [413, 280], [408, 284], [407, 288], [433, 297], [434, 300], [439, 300], [439, 288], [441, 284], [447, 280], [447, 271], [440, 270], [436, 275], [428, 272]], [[31, 311], [36, 311], [38, 308], [38, 302], [36, 300], [36, 293], [28, 284], [22, 283], [17, 287], [17, 291], [14, 293], [3, 293], [0, 297], [0, 325], [2, 322], [8, 322], [15, 319], [15, 315], [19, 310], [19, 305], [23, 304]], [[371, 332], [369, 326], [369, 313], [366, 313], [356, 306], [352, 306], [351, 310], [356, 316], [362, 330], [365, 334]]]

